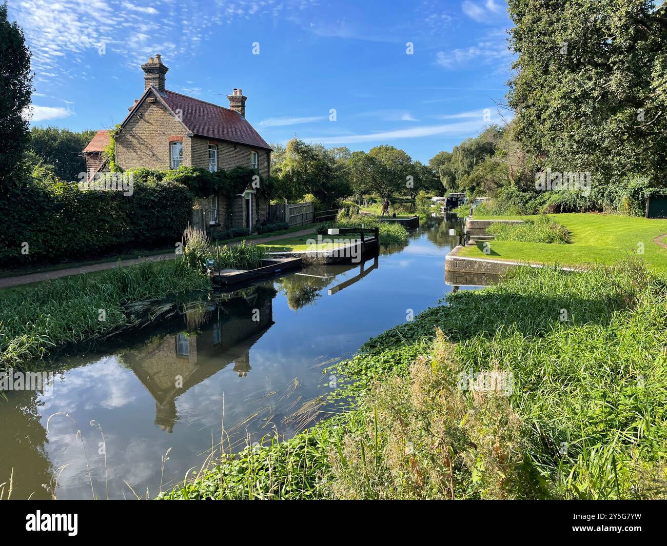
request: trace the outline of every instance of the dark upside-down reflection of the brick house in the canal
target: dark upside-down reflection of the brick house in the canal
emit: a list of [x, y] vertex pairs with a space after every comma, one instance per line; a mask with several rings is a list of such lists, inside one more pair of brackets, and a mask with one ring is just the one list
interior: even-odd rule
[[178, 419], [175, 400], [233, 363], [245, 377], [250, 348], [273, 325], [273, 295], [261, 289], [209, 305], [197, 331], [158, 335], [123, 361], [155, 399], [155, 423], [171, 432]]

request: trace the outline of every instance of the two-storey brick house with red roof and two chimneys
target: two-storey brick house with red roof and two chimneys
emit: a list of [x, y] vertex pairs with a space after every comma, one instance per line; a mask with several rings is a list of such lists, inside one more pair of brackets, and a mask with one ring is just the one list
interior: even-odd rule
[[[160, 55], [141, 65], [144, 91], [129, 107], [115, 137], [115, 162], [124, 170], [176, 169], [180, 165], [217, 171], [250, 167], [268, 179], [271, 147], [245, 119], [241, 89], [233, 89], [229, 108], [165, 89], [169, 69]], [[83, 150], [86, 171], [107, 170], [103, 150], [109, 131], [97, 134]], [[195, 205], [193, 218], [206, 227], [243, 227], [253, 231], [267, 221], [269, 200], [251, 185], [236, 195], [211, 195]], [[200, 219], [201, 218], [201, 219]]]

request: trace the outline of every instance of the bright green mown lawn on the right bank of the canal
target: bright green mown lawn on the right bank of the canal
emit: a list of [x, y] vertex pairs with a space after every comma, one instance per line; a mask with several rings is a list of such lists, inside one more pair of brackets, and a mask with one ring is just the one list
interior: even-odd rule
[[[491, 241], [491, 253], [484, 253], [483, 243], [462, 249], [460, 255], [526, 261], [530, 263], [554, 263], [561, 265], [586, 265], [604, 263], [611, 265], [628, 255], [640, 257], [656, 271], [667, 273], [667, 248], [656, 243], [656, 239], [667, 244], [667, 220], [636, 218], [595, 213], [573, 213], [550, 215], [564, 225], [572, 237], [568, 245], [547, 243], [516, 243], [514, 241]], [[475, 219], [489, 217], [475, 216]], [[503, 220], [528, 220], [532, 216], [504, 216]]]

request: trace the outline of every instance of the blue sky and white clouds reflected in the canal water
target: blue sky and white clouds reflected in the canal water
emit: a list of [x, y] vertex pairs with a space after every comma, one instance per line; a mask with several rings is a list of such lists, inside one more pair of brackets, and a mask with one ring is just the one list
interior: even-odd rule
[[[137, 494], [145, 495], [148, 487], [149, 495], [155, 496], [161, 458], [169, 448], [164, 483], [182, 480], [189, 467], [203, 463], [211, 443], [219, 441], [223, 413], [232, 441], [245, 435], [257, 441], [270, 434], [273, 425], [281, 433], [294, 433], [283, 418], [328, 391], [323, 386], [327, 378], [321, 373], [321, 363], [352, 355], [370, 337], [406, 321], [409, 309], [419, 313], [451, 289], [444, 283], [445, 254], [424, 233], [411, 239], [402, 251], [382, 255], [378, 269], [338, 293], [328, 295], [327, 289], [358, 275], [360, 269], [329, 279], [327, 287], [319, 291], [321, 297], [297, 313], [279, 291], [273, 299], [273, 326], [249, 350], [247, 376], [238, 377], [233, 363], [221, 369], [224, 363], [209, 363], [213, 371], [219, 371], [176, 399], [178, 421], [172, 433], [155, 424], [155, 400], [133, 371], [119, 364], [116, 355], [91, 357], [87, 365], [65, 371], [63, 380], [56, 379], [53, 395], [41, 398], [39, 410], [43, 427], [49, 415], [59, 411], [69, 413], [77, 423], [63, 415], [49, 423], [49, 459], [53, 468], [67, 465], [59, 479], [58, 497], [92, 496], [86, 456], [95, 494], [105, 497], [101, 436], [97, 427], [89, 425], [93, 419], [105, 435], [111, 497], [133, 497], [124, 481]], [[371, 265], [372, 261], [366, 263], [365, 269]], [[207, 333], [211, 335], [210, 330]], [[200, 357], [198, 364], [202, 360]], [[299, 387], [288, 396], [295, 379]], [[276, 393], [266, 396], [271, 391]], [[298, 397], [300, 402], [295, 404]], [[255, 419], [237, 426], [254, 413]], [[76, 437], [77, 427], [85, 455]], [[15, 481], [27, 471], [15, 469]]]

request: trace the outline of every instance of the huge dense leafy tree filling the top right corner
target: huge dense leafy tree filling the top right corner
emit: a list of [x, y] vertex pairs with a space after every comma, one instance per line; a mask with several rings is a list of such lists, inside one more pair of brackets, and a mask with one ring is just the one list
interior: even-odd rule
[[596, 183], [664, 185], [667, 14], [652, 0], [508, 0], [516, 136], [542, 165]]

